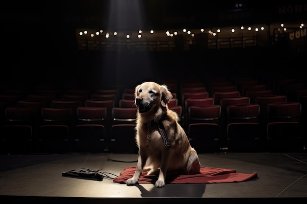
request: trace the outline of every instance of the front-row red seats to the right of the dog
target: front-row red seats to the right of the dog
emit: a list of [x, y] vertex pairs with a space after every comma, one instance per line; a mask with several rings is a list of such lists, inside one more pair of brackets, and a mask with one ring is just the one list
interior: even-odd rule
[[[187, 130], [191, 145], [199, 151], [303, 151], [306, 135], [301, 104], [267, 104], [266, 121], [256, 103], [237, 103], [188, 108]], [[305, 138], [304, 138], [305, 136]]]

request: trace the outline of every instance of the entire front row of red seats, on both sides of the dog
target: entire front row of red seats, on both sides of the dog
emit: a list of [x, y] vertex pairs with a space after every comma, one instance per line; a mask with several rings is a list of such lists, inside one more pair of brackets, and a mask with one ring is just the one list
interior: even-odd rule
[[[272, 98], [274, 99], [274, 97], [275, 96], [259, 97], [257, 99], [259, 100], [267, 99], [268, 100]], [[219, 104], [210, 104], [210, 105], [207, 104], [205, 106], [202, 106], [200, 104], [199, 105], [194, 104], [188, 107], [187, 116], [186, 116], [186, 124], [184, 125], [187, 127], [186, 132], [193, 146], [196, 147], [198, 145], [201, 145], [200, 147], [198, 147], [200, 151], [208, 151], [208, 150], [217, 151], [221, 147], [229, 147], [229, 146], [234, 147], [235, 145], [242, 146], [245, 148], [251, 148], [251, 146], [261, 148], [262, 147], [261, 145], [267, 142], [267, 138], [274, 137], [274, 136], [271, 137], [272, 134], [269, 134], [269, 132], [266, 132], [267, 128], [269, 127], [268, 122], [272, 122], [272, 121], [264, 121], [264, 120], [261, 120], [259, 117], [260, 110], [265, 110], [265, 109], [260, 109], [259, 104], [257, 103], [250, 104], [248, 102], [235, 103], [235, 100], [233, 99], [240, 99], [239, 97], [225, 98], [225, 99], [231, 99], [230, 101], [234, 102], [233, 104], [228, 105], [227, 109], [222, 109], [222, 106]], [[193, 99], [191, 100], [193, 101]], [[202, 99], [196, 99], [198, 103], [200, 102], [199, 100], [202, 100]], [[68, 101], [65, 101], [65, 102], [68, 102]], [[263, 104], [270, 105], [268, 107], [271, 107], [273, 105], [272, 103], [268, 103], [268, 102], [263, 103]], [[295, 119], [295, 121], [291, 121], [291, 122], [288, 122], [287, 120], [286, 121], [288, 124], [287, 127], [291, 127], [289, 126], [290, 124], [292, 125], [292, 127], [300, 127], [303, 124], [300, 121], [300, 118], [301, 118], [301, 104], [300, 103], [283, 101], [280, 103], [274, 103], [274, 105], [276, 106], [278, 105], [279, 107], [277, 109], [279, 111], [278, 112], [275, 111], [273, 113], [281, 114], [281, 115], [274, 116], [276, 118], [277, 117], [282, 118], [282, 121], [280, 122], [285, 122], [285, 119], [291, 119], [291, 120]], [[179, 115], [181, 115], [182, 113], [182, 107], [179, 105], [170, 106], [170, 109], [175, 110]], [[233, 111], [233, 110], [236, 110], [236, 111]], [[2, 136], [11, 137], [14, 135], [18, 135], [18, 134], [13, 134], [14, 132], [12, 131], [12, 129], [14, 128], [15, 131], [18, 131], [18, 126], [23, 125], [22, 130], [26, 129], [26, 127], [29, 129], [28, 140], [31, 140], [32, 143], [34, 141], [38, 141], [39, 143], [36, 144], [36, 146], [42, 146], [41, 144], [43, 143], [41, 141], [43, 141], [44, 140], [43, 138], [44, 137], [46, 138], [48, 134], [50, 135], [49, 139], [51, 139], [52, 137], [54, 138], [52, 134], [60, 136], [60, 134], [56, 134], [56, 132], [53, 133], [51, 130], [49, 130], [50, 128], [57, 130], [58, 133], [61, 132], [59, 129], [62, 129], [62, 130], [64, 129], [65, 136], [61, 136], [61, 137], [65, 138], [67, 141], [69, 138], [70, 140], [73, 140], [74, 143], [76, 143], [76, 141], [81, 141], [82, 139], [80, 139], [80, 137], [82, 136], [84, 138], [86, 137], [89, 138], [88, 135], [91, 135], [91, 136], [95, 135], [94, 134], [95, 131], [92, 132], [89, 130], [101, 129], [100, 131], [98, 130], [98, 132], [96, 132], [97, 133], [96, 135], [100, 136], [99, 140], [101, 140], [101, 143], [104, 143], [103, 145], [105, 146], [103, 147], [104, 148], [103, 150], [106, 151], [108, 148], [107, 146], [109, 145], [106, 144], [105, 142], [116, 140], [114, 138], [116, 137], [115, 136], [116, 134], [113, 134], [114, 132], [112, 132], [112, 129], [116, 127], [116, 124], [129, 123], [131, 124], [131, 126], [134, 125], [136, 108], [113, 107], [112, 108], [112, 120], [106, 119], [107, 117], [106, 112], [107, 112], [107, 108], [105, 107], [93, 107], [93, 106], [77, 107], [76, 113], [75, 113], [76, 117], [74, 117], [73, 119], [71, 108], [63, 108], [63, 107], [62, 108], [42, 108], [40, 112], [38, 112], [38, 113], [41, 113], [40, 115], [40, 114], [37, 114], [35, 109], [31, 109], [31, 108], [28, 109], [25, 107], [7, 107], [5, 109], [5, 115], [6, 115], [5, 122], [4, 122], [5, 128], [3, 128], [3, 130], [6, 130], [7, 132], [3, 131], [4, 134]], [[238, 114], [238, 115], [235, 115], [235, 114]], [[267, 112], [264, 114], [268, 116], [271, 115], [272, 114], [271, 109], [268, 109]], [[273, 116], [270, 116], [270, 117], [273, 118]], [[246, 135], [245, 138], [248, 138], [250, 140], [253, 138], [252, 140], [255, 140], [255, 141], [252, 141], [252, 140], [249, 141], [250, 145], [240, 144], [240, 141], [243, 141], [243, 139], [238, 137], [238, 135], [236, 137], [237, 141], [234, 138], [231, 138], [235, 135], [235, 134], [231, 134], [231, 131], [230, 131], [231, 127], [235, 127], [235, 126], [230, 126], [230, 123], [233, 123], [233, 121], [231, 122], [233, 118], [240, 119], [240, 123], [242, 122], [249, 123], [249, 124], [239, 125], [237, 121], [235, 126], [237, 127], [236, 130], [240, 130], [240, 129], [244, 130], [242, 131], [242, 133], [245, 133]], [[266, 118], [266, 116], [264, 118]], [[283, 130], [284, 127], [286, 127], [284, 126], [284, 124], [285, 123], [280, 123], [281, 125], [280, 130]], [[48, 125], [51, 125], [51, 126], [48, 126]], [[58, 127], [58, 125], [60, 125], [60, 127]], [[243, 127], [246, 127], [247, 125], [249, 128], [244, 129]], [[57, 127], [55, 128], [55, 126]], [[251, 128], [252, 126], [253, 127], [255, 126], [257, 131], [254, 128]], [[108, 127], [110, 127], [111, 130], [109, 130]], [[198, 127], [197, 129], [198, 131], [193, 131], [193, 128], [196, 128], [196, 127]], [[203, 128], [202, 131], [200, 131], [200, 127]], [[208, 127], [210, 127], [209, 130], [207, 130]], [[44, 128], [45, 129], [47, 128], [48, 131], [43, 131]], [[86, 133], [86, 131], [83, 131], [83, 134], [80, 134], [82, 132], [80, 131], [81, 128], [84, 130], [86, 130], [87, 128], [89, 132]], [[130, 135], [133, 135], [133, 131], [134, 131], [133, 128], [134, 127], [130, 128], [131, 133], [132, 133]], [[212, 132], [212, 128], [215, 130], [214, 132]], [[252, 130], [252, 131], [247, 131], [247, 130]], [[303, 129], [302, 127], [300, 127], [295, 130], [298, 131], [297, 132], [298, 134], [294, 134], [294, 135], [296, 135], [298, 141], [300, 141], [300, 139], [302, 139], [301, 138], [302, 132], [299, 130], [303, 130]], [[126, 134], [127, 132], [123, 132], [123, 133]], [[281, 131], [281, 136], [287, 136], [287, 135], [292, 137], [292, 134], [289, 134], [287, 131]], [[202, 137], [204, 137], [206, 141], [203, 141], [203, 142], [197, 141], [197, 138], [202, 138]], [[130, 145], [127, 145], [127, 147], [135, 146], [133, 136], [129, 138], [130, 138], [130, 141], [133, 141], [133, 143], [131, 142]], [[119, 141], [121, 141], [121, 139]], [[128, 144], [127, 142], [125, 143]], [[77, 144], [74, 144], [74, 146], [76, 146]], [[79, 144], [81, 144], [81, 142], [79, 142]], [[114, 142], [114, 144], [116, 143]], [[207, 146], [204, 144], [207, 144]], [[295, 144], [297, 144], [297, 142]], [[301, 145], [302, 143], [299, 143], [299, 144]], [[84, 146], [84, 144], [82, 145]], [[98, 146], [98, 149], [97, 149], [97, 151], [99, 150], [102, 151], [102, 149], [99, 149], [99, 148], [102, 148], [102, 144]], [[88, 145], [87, 151], [91, 149], [93, 150], [94, 148], [91, 147], [91, 145]], [[43, 150], [44, 148], [41, 148], [40, 150], [37, 149], [36, 151], [43, 151]], [[80, 150], [81, 148], [79, 150], [75, 149], [75, 151], [80, 151]], [[123, 150], [123, 148], [121, 148], [120, 150]]]

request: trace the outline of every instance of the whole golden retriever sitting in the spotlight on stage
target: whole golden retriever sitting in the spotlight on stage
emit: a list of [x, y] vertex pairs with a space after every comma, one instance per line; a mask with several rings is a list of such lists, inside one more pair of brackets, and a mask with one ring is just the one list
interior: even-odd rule
[[144, 82], [135, 87], [134, 94], [138, 110], [135, 139], [139, 151], [135, 173], [126, 184], [138, 183], [143, 171], [158, 175], [156, 187], [165, 186], [167, 172], [199, 173], [197, 152], [180, 126], [178, 114], [168, 108], [173, 96], [167, 86]]

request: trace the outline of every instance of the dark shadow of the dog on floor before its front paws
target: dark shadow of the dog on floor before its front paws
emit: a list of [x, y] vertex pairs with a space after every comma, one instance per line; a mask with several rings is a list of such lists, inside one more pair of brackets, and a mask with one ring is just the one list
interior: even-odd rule
[[[149, 184], [151, 185], [151, 184]], [[205, 193], [205, 183], [180, 183], [180, 184], [166, 184], [162, 188], [153, 186], [152, 189], [147, 190], [144, 186], [136, 184], [141, 191], [142, 197], [194, 197], [202, 198]]]

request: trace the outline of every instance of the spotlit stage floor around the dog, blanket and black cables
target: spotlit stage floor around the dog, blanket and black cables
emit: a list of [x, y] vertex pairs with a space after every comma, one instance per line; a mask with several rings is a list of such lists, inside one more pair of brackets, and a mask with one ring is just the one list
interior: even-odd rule
[[[307, 153], [219, 153], [199, 154], [205, 167], [256, 172], [258, 178], [231, 183], [166, 184], [156, 188], [143, 183], [134, 186], [63, 177], [62, 172], [87, 168], [114, 178], [124, 168], [135, 166], [136, 154], [67, 153], [0, 155], [1, 200], [32, 203], [157, 203], [177, 199], [176, 203], [275, 203], [307, 201]], [[116, 160], [116, 161], [114, 161]], [[139, 199], [140, 198], [140, 199]], [[144, 200], [143, 200], [144, 199]], [[193, 201], [194, 199], [194, 201]], [[272, 199], [272, 200], [270, 200]], [[290, 200], [289, 200], [290, 199]], [[105, 203], [105, 202], [104, 202]], [[107, 202], [108, 203], [108, 202]]]

